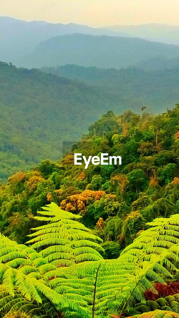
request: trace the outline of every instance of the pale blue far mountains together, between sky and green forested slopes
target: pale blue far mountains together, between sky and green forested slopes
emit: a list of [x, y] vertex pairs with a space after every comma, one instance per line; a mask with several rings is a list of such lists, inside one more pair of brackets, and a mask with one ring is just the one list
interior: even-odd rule
[[[92, 28], [0, 17], [0, 60], [27, 68], [56, 64], [117, 69], [143, 64], [146, 68], [146, 60], [152, 64], [177, 59], [178, 38], [179, 27], [165, 24]], [[153, 64], [155, 68], [157, 63]]]

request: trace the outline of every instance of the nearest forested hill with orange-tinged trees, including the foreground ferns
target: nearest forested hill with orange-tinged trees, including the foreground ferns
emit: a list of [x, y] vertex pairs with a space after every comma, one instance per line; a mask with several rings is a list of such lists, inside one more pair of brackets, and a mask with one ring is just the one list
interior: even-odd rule
[[[1, 317], [178, 318], [178, 146], [178, 104], [162, 115], [108, 111], [61, 162], [10, 177]], [[84, 169], [74, 152], [122, 165]]]

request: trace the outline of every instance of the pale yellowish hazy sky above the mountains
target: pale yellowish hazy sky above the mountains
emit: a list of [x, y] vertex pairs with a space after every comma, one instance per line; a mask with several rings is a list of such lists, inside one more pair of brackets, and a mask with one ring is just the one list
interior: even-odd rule
[[179, 0], [0, 0], [0, 16], [91, 26], [179, 24]]

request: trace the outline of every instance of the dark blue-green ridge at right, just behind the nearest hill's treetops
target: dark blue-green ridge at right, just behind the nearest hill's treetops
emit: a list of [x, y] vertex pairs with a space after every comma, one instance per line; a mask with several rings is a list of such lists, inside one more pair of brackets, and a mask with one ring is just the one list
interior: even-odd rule
[[43, 70], [98, 86], [117, 95], [125, 109], [135, 109], [136, 112], [142, 106], [148, 106], [156, 114], [173, 107], [179, 99], [179, 68], [160, 71], [151, 71], [150, 68], [146, 71], [140, 68], [117, 70], [66, 65]]

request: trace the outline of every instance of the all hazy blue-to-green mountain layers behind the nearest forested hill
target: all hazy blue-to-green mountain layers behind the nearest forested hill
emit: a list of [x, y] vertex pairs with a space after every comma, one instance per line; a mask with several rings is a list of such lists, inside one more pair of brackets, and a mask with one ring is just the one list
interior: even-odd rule
[[179, 46], [124, 31], [0, 17], [0, 180], [60, 159], [110, 109], [174, 107]]

